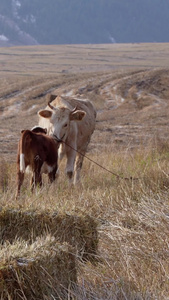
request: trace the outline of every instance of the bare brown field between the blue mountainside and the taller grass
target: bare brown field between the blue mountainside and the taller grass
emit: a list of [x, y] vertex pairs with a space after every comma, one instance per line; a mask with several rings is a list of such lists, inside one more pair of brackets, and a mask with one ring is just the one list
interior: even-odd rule
[[168, 57], [169, 44], [1, 48], [1, 158], [16, 160], [20, 130], [37, 124], [51, 92], [94, 103], [89, 151], [168, 140]]

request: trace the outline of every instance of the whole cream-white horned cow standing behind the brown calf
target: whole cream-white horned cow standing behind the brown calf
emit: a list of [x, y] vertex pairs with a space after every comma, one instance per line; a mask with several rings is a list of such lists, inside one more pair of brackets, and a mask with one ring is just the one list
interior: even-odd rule
[[92, 103], [49, 95], [48, 106], [40, 110], [38, 115], [39, 126], [47, 128], [47, 134], [54, 139], [63, 141], [59, 147], [59, 160], [66, 155], [66, 174], [69, 182], [76, 184], [80, 180], [83, 155], [95, 129], [96, 111]]

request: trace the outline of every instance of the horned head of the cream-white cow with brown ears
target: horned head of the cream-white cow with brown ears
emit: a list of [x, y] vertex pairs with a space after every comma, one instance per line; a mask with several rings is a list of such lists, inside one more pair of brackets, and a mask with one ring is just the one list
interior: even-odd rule
[[71, 109], [69, 105], [54, 107], [51, 103], [48, 103], [51, 110], [44, 109], [38, 112], [40, 117], [49, 120], [48, 134], [56, 139], [63, 140], [67, 138], [70, 130], [70, 123], [72, 121], [81, 121], [85, 112], [78, 110], [77, 108]]

